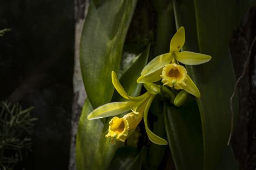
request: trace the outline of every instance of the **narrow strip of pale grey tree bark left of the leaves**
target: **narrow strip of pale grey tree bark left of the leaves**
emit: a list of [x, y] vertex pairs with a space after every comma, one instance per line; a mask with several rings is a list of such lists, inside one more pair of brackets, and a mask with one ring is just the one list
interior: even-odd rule
[[79, 46], [80, 37], [83, 30], [85, 15], [89, 6], [88, 0], [75, 0], [75, 60], [73, 73], [73, 105], [71, 115], [71, 143], [70, 143], [70, 160], [69, 169], [76, 169], [76, 134], [78, 128], [79, 117], [84, 105], [86, 93], [84, 89], [82, 73], [79, 62]]

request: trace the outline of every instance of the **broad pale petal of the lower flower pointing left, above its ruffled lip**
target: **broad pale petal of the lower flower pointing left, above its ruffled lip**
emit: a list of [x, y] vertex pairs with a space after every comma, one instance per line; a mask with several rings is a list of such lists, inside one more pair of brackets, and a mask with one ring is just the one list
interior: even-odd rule
[[93, 110], [87, 117], [87, 119], [99, 119], [103, 117], [116, 116], [123, 112], [131, 110], [131, 105], [134, 102], [113, 102], [102, 105], [101, 107]]

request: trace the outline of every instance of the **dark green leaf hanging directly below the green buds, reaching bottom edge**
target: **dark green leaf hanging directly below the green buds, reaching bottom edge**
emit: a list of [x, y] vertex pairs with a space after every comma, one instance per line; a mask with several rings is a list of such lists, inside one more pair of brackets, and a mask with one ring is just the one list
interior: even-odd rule
[[177, 170], [203, 169], [203, 137], [197, 102], [189, 98], [178, 108], [165, 102], [164, 119]]

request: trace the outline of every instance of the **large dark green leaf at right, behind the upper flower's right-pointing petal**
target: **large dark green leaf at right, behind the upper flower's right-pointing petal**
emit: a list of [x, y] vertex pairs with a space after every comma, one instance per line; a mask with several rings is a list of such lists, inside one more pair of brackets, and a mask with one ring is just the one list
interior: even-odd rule
[[[242, 2], [241, 1], [240, 5]], [[187, 66], [201, 92], [198, 100], [204, 141], [204, 169], [216, 169], [231, 130], [230, 97], [235, 75], [228, 49], [239, 6], [237, 1], [174, 1], [177, 27], [184, 26], [184, 51], [200, 52], [212, 60], [200, 66]], [[237, 114], [237, 98], [234, 110]], [[236, 115], [235, 115], [236, 117]]]

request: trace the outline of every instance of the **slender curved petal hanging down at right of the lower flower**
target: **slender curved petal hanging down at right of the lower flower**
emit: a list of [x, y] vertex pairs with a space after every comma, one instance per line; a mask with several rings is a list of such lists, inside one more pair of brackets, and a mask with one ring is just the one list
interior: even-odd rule
[[147, 132], [147, 136], [149, 137], [149, 139], [152, 141], [152, 143], [157, 144], [157, 145], [167, 145], [167, 141], [159, 136], [157, 136], [156, 134], [154, 134], [149, 127], [147, 126], [147, 114], [149, 113], [149, 108], [150, 105], [154, 99], [155, 95], [152, 95], [149, 98], [149, 101], [146, 104], [145, 110], [144, 110], [144, 114], [143, 114], [143, 118], [144, 118], [144, 124], [145, 124], [145, 129]]

